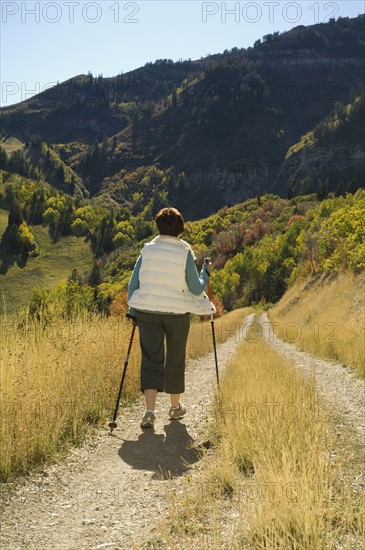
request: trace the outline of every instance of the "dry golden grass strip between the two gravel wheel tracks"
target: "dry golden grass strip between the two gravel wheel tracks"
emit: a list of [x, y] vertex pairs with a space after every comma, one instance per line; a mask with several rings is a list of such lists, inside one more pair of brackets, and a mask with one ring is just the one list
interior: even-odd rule
[[[346, 482], [314, 382], [267, 344], [245, 342], [216, 400], [203, 478], [171, 499], [161, 526], [184, 549], [361, 548], [361, 496]], [[346, 491], [344, 491], [346, 486]], [[346, 495], [346, 497], [345, 497]], [[347, 546], [348, 544], [348, 546]]]

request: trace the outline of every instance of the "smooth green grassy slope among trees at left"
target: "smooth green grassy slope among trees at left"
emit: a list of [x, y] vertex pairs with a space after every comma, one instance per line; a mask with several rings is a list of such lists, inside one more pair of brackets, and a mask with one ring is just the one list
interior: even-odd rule
[[[8, 212], [0, 209], [0, 235], [4, 232]], [[6, 275], [0, 274], [0, 314], [12, 314], [16, 308], [27, 302], [33, 287], [54, 288], [66, 280], [74, 267], [82, 273], [93, 259], [89, 243], [83, 238], [62, 237], [53, 244], [48, 228], [32, 228], [35, 240], [39, 243], [40, 254], [29, 258], [25, 267], [12, 265]]]

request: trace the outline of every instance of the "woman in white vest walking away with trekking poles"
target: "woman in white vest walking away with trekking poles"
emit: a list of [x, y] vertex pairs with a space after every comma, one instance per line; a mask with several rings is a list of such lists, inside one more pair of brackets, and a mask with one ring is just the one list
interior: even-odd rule
[[184, 218], [176, 208], [163, 208], [155, 221], [159, 235], [143, 246], [128, 286], [128, 305], [137, 317], [142, 351], [141, 390], [146, 402], [142, 428], [154, 425], [157, 392], [170, 394], [170, 418], [186, 413], [180, 394], [185, 390], [190, 313], [215, 312], [203, 292], [210, 266], [205, 264], [199, 275], [193, 251], [178, 238]]

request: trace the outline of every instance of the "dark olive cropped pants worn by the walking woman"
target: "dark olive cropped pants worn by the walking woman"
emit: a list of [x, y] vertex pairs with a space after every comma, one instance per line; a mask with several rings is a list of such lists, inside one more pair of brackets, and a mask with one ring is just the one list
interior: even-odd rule
[[136, 315], [142, 351], [141, 390], [183, 393], [190, 313], [170, 315], [136, 311]]

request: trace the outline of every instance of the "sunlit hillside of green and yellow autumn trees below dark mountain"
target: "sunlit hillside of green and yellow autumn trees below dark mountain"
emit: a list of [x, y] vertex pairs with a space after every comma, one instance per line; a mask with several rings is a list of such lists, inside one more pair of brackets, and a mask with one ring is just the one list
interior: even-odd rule
[[[47, 227], [50, 243], [73, 236], [91, 248], [94, 263], [90, 258], [89, 268], [84, 265], [71, 278], [76, 287], [87, 285], [92, 291], [85, 303], [81, 292], [78, 307], [106, 313], [125, 310], [134, 262], [143, 243], [156, 233], [153, 218], [161, 203], [148, 189], [163, 188], [173, 178], [156, 168], [140, 169], [137, 174], [140, 191], [136, 189], [130, 202], [113, 211], [108, 205], [3, 172], [6, 185], [0, 206], [9, 212], [1, 240], [3, 276], [12, 265], [31, 265], [41, 255], [35, 235], [37, 227]], [[113, 190], [128, 198], [126, 189]], [[288, 284], [301, 277], [361, 271], [365, 267], [364, 211], [365, 191], [353, 179], [337, 193], [328, 194], [324, 187], [317, 194], [291, 199], [257, 196], [187, 222], [183, 237], [192, 244], [198, 264], [207, 255], [214, 259], [212, 289], [223, 308], [230, 310], [253, 302], [275, 302]], [[53, 307], [47, 292], [51, 291], [44, 296]]]

